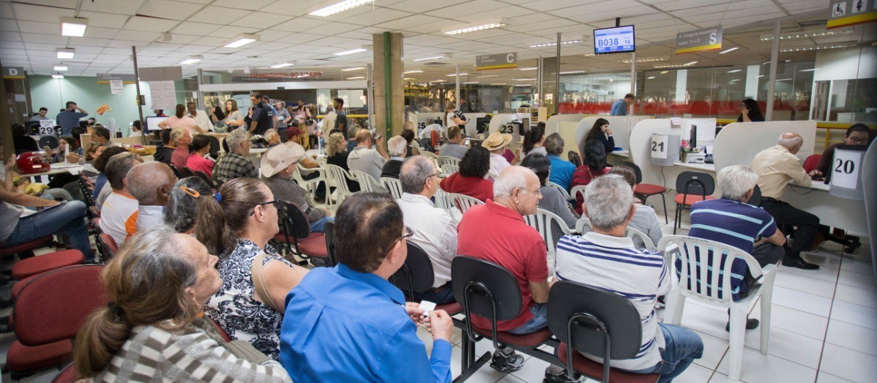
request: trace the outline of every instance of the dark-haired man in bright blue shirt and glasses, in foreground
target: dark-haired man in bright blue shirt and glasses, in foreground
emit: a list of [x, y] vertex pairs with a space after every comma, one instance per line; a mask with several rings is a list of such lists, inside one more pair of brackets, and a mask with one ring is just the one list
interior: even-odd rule
[[[444, 310], [424, 317], [387, 281], [411, 235], [389, 194], [358, 193], [341, 205], [339, 265], [311, 270], [286, 297], [280, 360], [296, 383], [451, 381], [451, 317]], [[431, 358], [417, 324], [432, 333]]]

